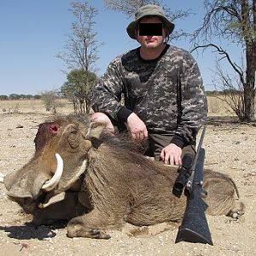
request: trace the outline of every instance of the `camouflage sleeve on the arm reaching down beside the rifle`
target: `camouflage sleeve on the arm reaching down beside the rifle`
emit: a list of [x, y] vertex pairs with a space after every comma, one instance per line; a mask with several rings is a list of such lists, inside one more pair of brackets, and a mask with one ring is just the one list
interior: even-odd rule
[[195, 144], [196, 134], [207, 119], [208, 108], [199, 67], [189, 52], [183, 55], [182, 66], [180, 76], [182, 114], [172, 143], [183, 148]]

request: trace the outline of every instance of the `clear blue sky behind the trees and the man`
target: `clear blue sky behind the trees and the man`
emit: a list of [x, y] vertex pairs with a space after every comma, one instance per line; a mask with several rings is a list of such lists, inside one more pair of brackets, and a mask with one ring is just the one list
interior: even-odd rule
[[[66, 81], [61, 72], [64, 63], [55, 57], [63, 50], [70, 32], [73, 15], [69, 11], [71, 0], [0, 0], [0, 95], [39, 94], [57, 90]], [[84, 2], [84, 1], [79, 1]], [[96, 62], [99, 74], [105, 72], [110, 61], [129, 49], [138, 46], [128, 37], [125, 27], [132, 20], [125, 15], [105, 9], [103, 0], [89, 0], [98, 9], [95, 30], [97, 39], [105, 44], [98, 51]], [[193, 31], [201, 25], [204, 15], [203, 1], [166, 0], [173, 11], [191, 9], [195, 15], [178, 20], [176, 27]], [[172, 43], [171, 43], [172, 44]], [[190, 49], [189, 42], [173, 44]], [[214, 56], [194, 55], [201, 69], [206, 90], [212, 89], [211, 69]]]

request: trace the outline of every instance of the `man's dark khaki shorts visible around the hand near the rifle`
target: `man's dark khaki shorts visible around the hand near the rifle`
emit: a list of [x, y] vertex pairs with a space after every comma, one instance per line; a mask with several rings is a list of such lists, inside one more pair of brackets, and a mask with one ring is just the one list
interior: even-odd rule
[[[173, 134], [148, 134], [148, 141], [143, 144], [147, 148], [146, 155], [154, 157], [155, 160], [160, 160], [160, 153], [163, 148], [166, 148], [172, 141]], [[189, 145], [183, 148], [182, 157], [184, 154], [190, 154], [192, 158], [195, 157], [195, 146]]]

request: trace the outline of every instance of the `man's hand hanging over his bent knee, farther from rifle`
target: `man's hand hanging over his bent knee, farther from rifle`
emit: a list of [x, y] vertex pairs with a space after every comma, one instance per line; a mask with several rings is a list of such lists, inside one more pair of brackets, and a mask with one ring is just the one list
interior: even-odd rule
[[147, 127], [136, 113], [129, 115], [126, 126], [133, 139], [141, 142], [148, 138]]

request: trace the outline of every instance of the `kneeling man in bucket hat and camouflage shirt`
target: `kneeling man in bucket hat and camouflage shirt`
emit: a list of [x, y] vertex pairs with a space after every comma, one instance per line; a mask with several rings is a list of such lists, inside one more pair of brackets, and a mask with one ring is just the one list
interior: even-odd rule
[[146, 154], [181, 165], [183, 154], [195, 154], [195, 136], [207, 118], [199, 68], [188, 51], [165, 43], [174, 24], [163, 9], [148, 4], [135, 18], [126, 31], [141, 46], [110, 63], [94, 90], [91, 120], [112, 132], [125, 127], [148, 142]]

